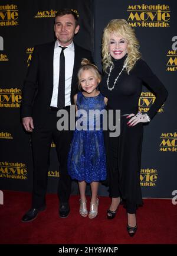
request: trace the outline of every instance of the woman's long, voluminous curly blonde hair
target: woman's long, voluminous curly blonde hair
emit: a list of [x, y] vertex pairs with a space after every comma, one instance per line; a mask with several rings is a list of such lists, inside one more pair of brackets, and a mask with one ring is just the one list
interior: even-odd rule
[[126, 71], [129, 73], [137, 60], [141, 57], [139, 52], [139, 41], [136, 38], [135, 31], [130, 27], [129, 23], [123, 19], [111, 20], [104, 28], [102, 39], [102, 62], [103, 71], [106, 73], [107, 68], [113, 65], [112, 56], [109, 54], [110, 33], [114, 33], [116, 36], [122, 36], [128, 43], [127, 57], [124, 61], [124, 65], [126, 65]]

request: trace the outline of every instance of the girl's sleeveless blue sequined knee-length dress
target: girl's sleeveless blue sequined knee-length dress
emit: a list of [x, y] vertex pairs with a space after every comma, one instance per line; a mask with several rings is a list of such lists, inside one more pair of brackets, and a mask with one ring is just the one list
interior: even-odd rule
[[[106, 180], [103, 119], [97, 118], [97, 114], [94, 119], [89, 119], [89, 110], [104, 111], [104, 97], [101, 93], [95, 97], [85, 97], [82, 92], [78, 92], [76, 104], [82, 112], [77, 117], [76, 130], [68, 153], [68, 174], [73, 180], [87, 183]], [[80, 129], [79, 124], [84, 129]], [[99, 126], [100, 130], [96, 130]]]

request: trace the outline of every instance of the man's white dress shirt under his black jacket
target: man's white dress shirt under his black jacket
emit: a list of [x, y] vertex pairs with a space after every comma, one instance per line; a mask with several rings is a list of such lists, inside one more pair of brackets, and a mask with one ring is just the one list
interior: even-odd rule
[[[54, 47], [54, 85], [53, 85], [53, 95], [51, 98], [51, 107], [57, 107], [58, 101], [58, 83], [60, 75], [60, 53], [61, 53], [61, 44], [58, 40], [55, 41]], [[72, 42], [64, 50], [65, 57], [65, 107], [71, 105], [71, 81], [73, 76], [73, 67], [74, 67], [74, 43]]]

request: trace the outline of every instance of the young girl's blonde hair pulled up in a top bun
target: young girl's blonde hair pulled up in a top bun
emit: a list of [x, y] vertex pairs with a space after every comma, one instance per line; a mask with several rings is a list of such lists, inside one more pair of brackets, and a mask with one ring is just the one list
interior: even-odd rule
[[101, 82], [101, 75], [99, 72], [99, 69], [97, 68], [96, 65], [94, 65], [93, 63], [91, 63], [88, 59], [82, 59], [81, 61], [81, 67], [78, 70], [77, 73], [77, 78], [78, 78], [78, 88], [81, 89], [81, 85], [80, 85], [80, 76], [81, 76], [81, 72], [83, 71], [91, 71], [94, 73], [94, 77], [97, 79], [98, 83]]

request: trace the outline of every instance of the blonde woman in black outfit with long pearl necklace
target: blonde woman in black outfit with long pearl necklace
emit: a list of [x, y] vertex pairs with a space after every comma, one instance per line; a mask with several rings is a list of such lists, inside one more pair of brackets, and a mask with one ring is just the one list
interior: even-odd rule
[[[109, 131], [105, 136], [112, 198], [107, 218], [116, 216], [122, 200], [127, 210], [127, 232], [133, 236], [137, 230], [136, 209], [143, 204], [139, 180], [143, 123], [155, 116], [168, 92], [142, 60], [135, 31], [126, 20], [111, 20], [104, 28], [102, 56], [100, 91], [108, 98], [107, 110], [121, 111], [120, 136], [109, 137]], [[156, 95], [148, 113], [138, 111], [143, 82]]]

